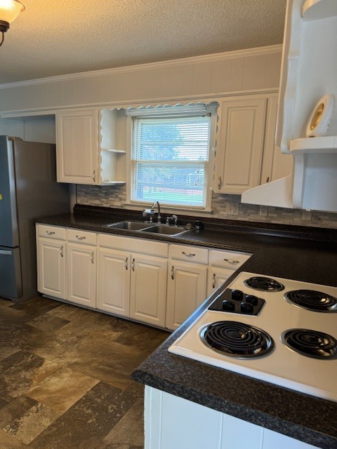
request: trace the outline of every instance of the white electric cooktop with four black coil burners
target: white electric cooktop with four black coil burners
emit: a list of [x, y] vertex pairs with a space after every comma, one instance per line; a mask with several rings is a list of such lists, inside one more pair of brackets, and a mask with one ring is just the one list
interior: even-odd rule
[[170, 352], [337, 401], [336, 287], [241, 272], [214, 305]]

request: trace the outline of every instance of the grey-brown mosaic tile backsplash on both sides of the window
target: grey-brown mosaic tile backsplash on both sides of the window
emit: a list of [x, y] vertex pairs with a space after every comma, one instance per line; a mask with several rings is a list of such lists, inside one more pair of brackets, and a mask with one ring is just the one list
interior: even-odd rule
[[[211, 216], [225, 220], [247, 220], [251, 222], [337, 229], [337, 213], [317, 210], [308, 212], [300, 209], [275, 208], [273, 206], [260, 207], [253, 204], [240, 203], [240, 199], [239, 195], [218, 195], [213, 193], [213, 212]], [[77, 203], [86, 206], [123, 208], [126, 203], [125, 185], [102, 187], [77, 185]], [[233, 210], [233, 205], [239, 206], [237, 215], [230, 213], [230, 210]]]

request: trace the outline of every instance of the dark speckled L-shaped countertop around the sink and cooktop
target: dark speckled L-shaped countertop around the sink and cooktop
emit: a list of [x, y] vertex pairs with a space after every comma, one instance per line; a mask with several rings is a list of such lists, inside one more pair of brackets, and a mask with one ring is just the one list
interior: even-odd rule
[[[115, 210], [110, 213], [107, 208], [98, 208], [100, 213], [97, 214], [94, 209], [75, 206], [75, 214], [46, 217], [37, 222], [252, 253], [250, 259], [228, 279], [223, 289], [239, 271], [337, 286], [336, 230], [206, 220], [204, 231], [198, 233], [187, 232], [178, 238], [150, 236], [102, 227], [124, 219], [139, 220], [138, 212]], [[183, 219], [188, 220], [190, 217]], [[183, 326], [133, 372], [133, 379], [319, 448], [337, 449], [336, 402], [278, 387], [167, 351], [211, 300], [212, 297], [204, 302]]]

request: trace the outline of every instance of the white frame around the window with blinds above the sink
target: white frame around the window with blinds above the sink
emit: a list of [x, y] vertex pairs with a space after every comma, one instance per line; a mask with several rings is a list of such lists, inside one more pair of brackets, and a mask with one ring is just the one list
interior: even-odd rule
[[[138, 108], [138, 109], [128, 109], [126, 111], [126, 115], [128, 116], [128, 159], [127, 159], [127, 164], [126, 164], [126, 204], [128, 204], [128, 206], [133, 206], [134, 208], [144, 208], [147, 206], [151, 206], [152, 202], [149, 201], [137, 201], [134, 199], [131, 199], [131, 182], [132, 182], [132, 170], [133, 170], [133, 166], [132, 166], [132, 153], [133, 153], [133, 129], [134, 129], [134, 120], [136, 118], [154, 118], [154, 116], [156, 117], [156, 111], [160, 111], [159, 114], [157, 115], [156, 118], [160, 118], [161, 114], [163, 114], [163, 110], [166, 109], [167, 114], [165, 114], [164, 116], [171, 116], [172, 119], [184, 116], [186, 118], [191, 117], [191, 116], [195, 116], [195, 113], [193, 113], [193, 106], [195, 106], [196, 104], [190, 104], [190, 105], [186, 105], [183, 106], [182, 109], [184, 109], [183, 114], [178, 114], [178, 110], [176, 109], [176, 111], [173, 114], [169, 114], [169, 110], [171, 109], [171, 111], [173, 110], [173, 107], [175, 107], [174, 105], [169, 107], [147, 107], [146, 108], [146, 112], [145, 112], [145, 108]], [[188, 115], [188, 107], [191, 106], [191, 113], [190, 115]], [[210, 213], [212, 208], [212, 185], [213, 185], [213, 172], [214, 172], [214, 154], [215, 154], [215, 146], [216, 146], [216, 123], [218, 121], [218, 115], [217, 115], [217, 109], [218, 109], [218, 102], [213, 101], [210, 102], [209, 104], [204, 104], [205, 107], [207, 107], [207, 112], [206, 114], [209, 114], [211, 121], [210, 121], [210, 128], [209, 128], [209, 158], [208, 161], [206, 161], [205, 163], [205, 169], [207, 170], [207, 183], [206, 183], [206, 203], [205, 206], [188, 206], [186, 205], [174, 205], [174, 204], [161, 204], [161, 210], [166, 210], [167, 212], [169, 212], [170, 210], [172, 210], [173, 212], [176, 210], [182, 210], [182, 211], [186, 211], [186, 212], [198, 212], [198, 213]], [[180, 106], [179, 106], [180, 107]], [[177, 105], [178, 108], [178, 105]], [[141, 113], [138, 115], [138, 111], [141, 111]], [[160, 199], [154, 198], [153, 201], [159, 201], [160, 203]]]

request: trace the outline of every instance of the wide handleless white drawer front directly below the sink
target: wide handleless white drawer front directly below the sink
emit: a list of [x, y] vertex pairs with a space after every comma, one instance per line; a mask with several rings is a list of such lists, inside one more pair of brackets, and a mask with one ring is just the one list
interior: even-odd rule
[[168, 244], [158, 241], [135, 239], [132, 237], [121, 237], [112, 234], [100, 234], [100, 246], [130, 251], [131, 253], [142, 253], [167, 257]]

